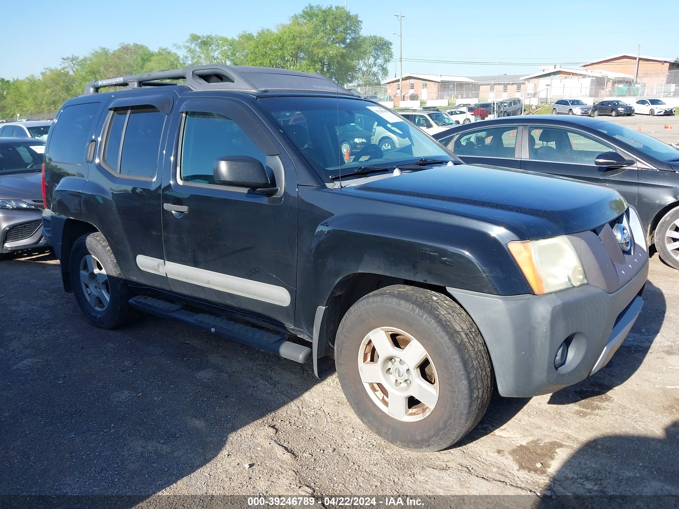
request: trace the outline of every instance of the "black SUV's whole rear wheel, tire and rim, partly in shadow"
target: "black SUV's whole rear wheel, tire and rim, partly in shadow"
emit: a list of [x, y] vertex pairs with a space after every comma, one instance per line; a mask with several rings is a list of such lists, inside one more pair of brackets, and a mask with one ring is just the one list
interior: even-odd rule
[[94, 325], [116, 328], [136, 316], [128, 305], [127, 283], [104, 235], [87, 233], [73, 243], [69, 271], [75, 300]]

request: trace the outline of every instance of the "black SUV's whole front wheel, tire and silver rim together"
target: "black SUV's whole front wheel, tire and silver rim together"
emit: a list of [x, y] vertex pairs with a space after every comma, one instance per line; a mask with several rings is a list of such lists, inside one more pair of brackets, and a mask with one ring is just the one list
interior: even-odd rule
[[394, 285], [354, 303], [337, 330], [335, 362], [356, 415], [406, 449], [453, 445], [490, 402], [481, 333], [457, 303], [432, 290]]

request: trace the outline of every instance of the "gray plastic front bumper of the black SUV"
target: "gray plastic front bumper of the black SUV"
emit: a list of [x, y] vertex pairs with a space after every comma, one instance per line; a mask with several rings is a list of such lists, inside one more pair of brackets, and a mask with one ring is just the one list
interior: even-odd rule
[[[639, 316], [648, 261], [614, 293], [591, 285], [551, 295], [487, 295], [447, 288], [483, 335], [502, 396], [555, 392], [602, 369]], [[566, 362], [555, 368], [566, 341]]]

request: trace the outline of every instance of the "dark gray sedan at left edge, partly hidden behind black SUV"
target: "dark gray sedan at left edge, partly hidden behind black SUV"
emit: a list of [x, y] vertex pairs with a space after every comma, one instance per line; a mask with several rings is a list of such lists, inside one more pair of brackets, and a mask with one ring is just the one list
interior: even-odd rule
[[47, 246], [42, 232], [45, 144], [33, 138], [0, 138], [0, 256]]

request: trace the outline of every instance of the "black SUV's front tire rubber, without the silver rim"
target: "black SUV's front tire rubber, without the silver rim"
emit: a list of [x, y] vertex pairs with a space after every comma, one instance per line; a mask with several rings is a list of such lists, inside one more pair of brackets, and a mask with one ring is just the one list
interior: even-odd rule
[[[418, 339], [435, 365], [439, 398], [424, 419], [390, 417], [361, 381], [361, 342], [381, 326]], [[385, 440], [416, 451], [440, 451], [468, 434], [488, 408], [493, 388], [488, 350], [473, 320], [449, 297], [412, 286], [375, 290], [350, 307], [337, 330], [335, 364], [344, 395], [361, 421]]]

